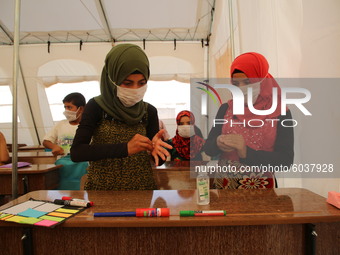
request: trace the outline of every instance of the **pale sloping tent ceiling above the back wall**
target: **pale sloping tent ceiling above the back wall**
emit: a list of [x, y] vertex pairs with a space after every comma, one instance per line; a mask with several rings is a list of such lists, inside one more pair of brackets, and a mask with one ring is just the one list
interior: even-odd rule
[[[20, 44], [197, 41], [215, 0], [21, 0]], [[15, 1], [1, 0], [0, 45], [12, 44]]]

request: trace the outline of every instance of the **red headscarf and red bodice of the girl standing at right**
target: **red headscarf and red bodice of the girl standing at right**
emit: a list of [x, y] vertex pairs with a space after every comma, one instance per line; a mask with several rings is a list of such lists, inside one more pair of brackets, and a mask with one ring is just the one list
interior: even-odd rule
[[[244, 115], [233, 115], [232, 100], [228, 101], [228, 110], [224, 119], [233, 120], [234, 122], [246, 122], [246, 126], [224, 124], [222, 134], [242, 134], [246, 145], [254, 150], [273, 151], [276, 140], [277, 122], [266, 121], [266, 119], [276, 119], [280, 115], [281, 90], [275, 79], [268, 73], [269, 64], [264, 56], [259, 53], [249, 52], [238, 56], [231, 65], [230, 75], [232, 77], [235, 70], [243, 72], [251, 83], [261, 82], [261, 90], [254, 104], [258, 110], [270, 109], [272, 106], [272, 88], [278, 88], [278, 106], [276, 110], [269, 115], [255, 115], [245, 105]], [[264, 79], [265, 78], [265, 79]], [[262, 120], [264, 125], [261, 127], [250, 127], [247, 125], [249, 120]], [[252, 122], [253, 125], [255, 122]], [[224, 157], [231, 160], [238, 160], [235, 151], [225, 152]]]

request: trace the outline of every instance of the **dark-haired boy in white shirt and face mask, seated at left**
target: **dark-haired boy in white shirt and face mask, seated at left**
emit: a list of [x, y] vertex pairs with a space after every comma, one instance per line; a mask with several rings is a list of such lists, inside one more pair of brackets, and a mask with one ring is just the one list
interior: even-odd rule
[[87, 162], [75, 163], [69, 155], [76, 130], [82, 118], [86, 104], [85, 97], [81, 93], [68, 94], [64, 99], [64, 115], [66, 120], [58, 122], [43, 141], [45, 148], [52, 149], [55, 156], [59, 158], [55, 164], [63, 165], [60, 168], [60, 190], [79, 190], [80, 179], [87, 173]]

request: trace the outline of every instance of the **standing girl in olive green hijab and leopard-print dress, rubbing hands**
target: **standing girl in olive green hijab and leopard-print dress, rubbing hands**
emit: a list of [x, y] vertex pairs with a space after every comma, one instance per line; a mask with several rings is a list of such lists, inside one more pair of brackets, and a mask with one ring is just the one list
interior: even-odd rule
[[150, 154], [162, 164], [171, 146], [161, 139], [156, 108], [143, 101], [149, 75], [137, 45], [120, 44], [107, 54], [101, 95], [87, 103], [71, 148], [73, 161], [90, 161], [85, 189], [156, 189]]

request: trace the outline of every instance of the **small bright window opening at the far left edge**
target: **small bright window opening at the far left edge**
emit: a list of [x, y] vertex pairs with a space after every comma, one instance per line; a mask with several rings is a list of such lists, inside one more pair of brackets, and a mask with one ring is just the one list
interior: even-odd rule
[[0, 123], [12, 123], [13, 96], [10, 87], [0, 86], [0, 95]]

